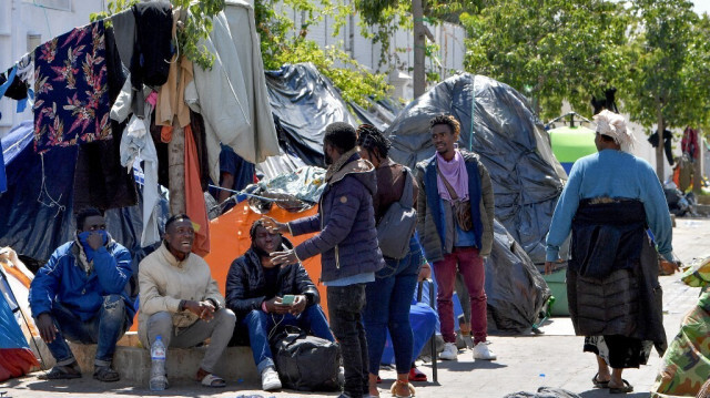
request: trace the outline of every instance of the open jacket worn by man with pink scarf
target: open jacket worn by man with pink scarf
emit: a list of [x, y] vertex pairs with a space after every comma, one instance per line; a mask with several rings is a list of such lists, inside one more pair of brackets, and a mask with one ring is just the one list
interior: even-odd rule
[[[468, 196], [470, 201], [474, 235], [480, 256], [490, 255], [493, 248], [493, 223], [495, 213], [493, 184], [486, 167], [478, 156], [462, 151], [468, 173]], [[444, 259], [445, 226], [442, 214], [442, 198], [437, 186], [436, 155], [417, 163], [417, 233], [424, 255], [429, 263]]]

